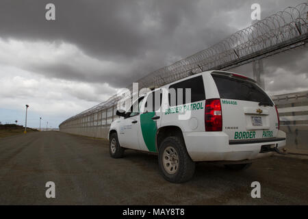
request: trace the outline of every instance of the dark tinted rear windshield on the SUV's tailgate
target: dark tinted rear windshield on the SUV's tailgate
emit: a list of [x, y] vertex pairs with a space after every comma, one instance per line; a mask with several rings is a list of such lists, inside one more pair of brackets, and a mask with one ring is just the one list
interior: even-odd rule
[[251, 81], [236, 79], [224, 75], [212, 74], [212, 76], [218, 88], [220, 98], [222, 99], [235, 99], [272, 104], [268, 94]]

